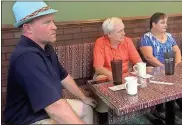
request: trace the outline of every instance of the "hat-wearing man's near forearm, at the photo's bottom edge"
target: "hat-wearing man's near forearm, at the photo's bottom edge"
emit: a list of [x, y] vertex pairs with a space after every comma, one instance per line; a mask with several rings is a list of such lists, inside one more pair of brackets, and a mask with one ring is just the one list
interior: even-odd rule
[[46, 107], [45, 110], [57, 124], [85, 124], [75, 114], [65, 99], [60, 99], [52, 104], [52, 106]]

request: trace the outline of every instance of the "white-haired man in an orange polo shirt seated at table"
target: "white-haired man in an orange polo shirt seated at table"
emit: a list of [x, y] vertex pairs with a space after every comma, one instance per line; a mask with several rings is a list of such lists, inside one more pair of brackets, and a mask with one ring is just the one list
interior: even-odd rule
[[[117, 17], [108, 18], [103, 22], [104, 36], [98, 38], [94, 46], [94, 79], [112, 79], [110, 62], [113, 59], [122, 60], [123, 76], [128, 73], [129, 61], [134, 65], [142, 61], [132, 40], [125, 36], [124, 28], [122, 20]], [[101, 100], [98, 103], [96, 110], [101, 113], [101, 117], [106, 117], [108, 107]]]

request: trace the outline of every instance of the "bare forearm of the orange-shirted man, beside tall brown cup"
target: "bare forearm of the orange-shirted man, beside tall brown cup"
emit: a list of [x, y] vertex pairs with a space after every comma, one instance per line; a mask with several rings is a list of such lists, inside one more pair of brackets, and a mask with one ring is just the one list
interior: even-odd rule
[[109, 79], [112, 79], [112, 72], [104, 67], [95, 67], [96, 74], [105, 75]]

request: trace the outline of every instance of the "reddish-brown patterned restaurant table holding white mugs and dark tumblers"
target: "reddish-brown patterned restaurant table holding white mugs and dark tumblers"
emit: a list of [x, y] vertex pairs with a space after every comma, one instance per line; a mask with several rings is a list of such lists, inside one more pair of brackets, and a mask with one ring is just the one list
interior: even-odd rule
[[[174, 85], [147, 83], [147, 87], [138, 87], [136, 96], [130, 96], [126, 90], [112, 91], [108, 87], [112, 82], [93, 84], [89, 80], [87, 85], [102, 99], [117, 115], [125, 115], [138, 110], [147, 109], [157, 104], [166, 104], [166, 124], [175, 123], [174, 100], [182, 98], [182, 63], [178, 64], [174, 75], [165, 75], [164, 67], [153, 68], [149, 74], [152, 80], [171, 82]], [[130, 76], [132, 74], [128, 74]]]

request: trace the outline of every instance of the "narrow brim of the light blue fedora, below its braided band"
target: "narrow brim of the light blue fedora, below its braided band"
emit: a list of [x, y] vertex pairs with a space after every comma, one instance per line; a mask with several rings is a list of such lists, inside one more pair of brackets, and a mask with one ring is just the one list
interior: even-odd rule
[[18, 23], [14, 23], [13, 25], [14, 25], [14, 27], [19, 27], [19, 26], [23, 25], [24, 23], [27, 23], [27, 22], [29, 22], [29, 21], [31, 21], [31, 20], [39, 17], [39, 16], [53, 14], [53, 13], [56, 13], [56, 12], [58, 12], [58, 10], [49, 9], [49, 10], [46, 10], [44, 12], [41, 12], [41, 13], [37, 14], [36, 16], [32, 16], [30, 18], [27, 18], [26, 20], [19, 21]]

